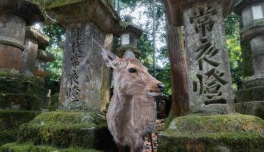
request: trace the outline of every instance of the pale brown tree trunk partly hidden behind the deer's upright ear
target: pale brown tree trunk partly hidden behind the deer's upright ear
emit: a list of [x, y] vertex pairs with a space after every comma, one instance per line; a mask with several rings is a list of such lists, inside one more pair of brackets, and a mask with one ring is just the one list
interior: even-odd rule
[[[113, 47], [113, 35], [106, 35], [104, 40], [104, 48], [111, 50]], [[104, 62], [104, 61], [103, 61]], [[101, 108], [100, 111], [106, 109], [106, 104], [110, 100], [110, 85], [111, 85], [111, 69], [103, 64], [103, 82], [101, 84]]]

